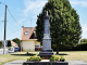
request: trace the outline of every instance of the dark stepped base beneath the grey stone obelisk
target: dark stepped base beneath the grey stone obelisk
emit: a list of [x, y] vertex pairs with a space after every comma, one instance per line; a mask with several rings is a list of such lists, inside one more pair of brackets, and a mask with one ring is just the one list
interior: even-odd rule
[[39, 56], [42, 57], [42, 60], [49, 60], [51, 55], [53, 55], [52, 50], [41, 50], [41, 52], [39, 53]]

